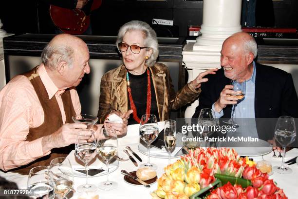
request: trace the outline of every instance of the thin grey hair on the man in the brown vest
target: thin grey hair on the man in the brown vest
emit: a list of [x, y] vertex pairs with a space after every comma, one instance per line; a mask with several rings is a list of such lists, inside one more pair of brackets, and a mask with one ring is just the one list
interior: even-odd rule
[[41, 62], [51, 70], [57, 68], [58, 63], [65, 61], [69, 66], [73, 64], [74, 49], [70, 46], [55, 46], [48, 43], [42, 53]]

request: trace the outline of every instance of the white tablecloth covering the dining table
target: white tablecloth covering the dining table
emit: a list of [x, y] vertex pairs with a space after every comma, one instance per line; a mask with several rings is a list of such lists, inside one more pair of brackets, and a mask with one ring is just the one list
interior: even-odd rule
[[[163, 128], [163, 125], [159, 125], [160, 129]], [[123, 152], [123, 149], [125, 149], [125, 146], [130, 146], [130, 148], [136, 152], [141, 159], [143, 160], [143, 163], [147, 162], [147, 156], [143, 155], [138, 151], [138, 144], [139, 144], [139, 131], [138, 131], [139, 125], [130, 125], [128, 127], [128, 133], [125, 137], [119, 139], [119, 150], [118, 150], [118, 156], [119, 157], [125, 157], [128, 158], [127, 155]], [[269, 153], [264, 156], [258, 156], [253, 157], [254, 160], [258, 161], [261, 159], [268, 160], [272, 163], [272, 166], [280, 165], [281, 164], [281, 158], [272, 158], [273, 153]], [[278, 154], [277, 154], [278, 155]], [[292, 149], [291, 151], [288, 151], [286, 153], [285, 161], [291, 158], [294, 158], [298, 156], [298, 149]], [[134, 158], [136, 159], [136, 158]], [[172, 158], [171, 162], [176, 161], [179, 158]], [[138, 165], [140, 165], [140, 162], [136, 159]], [[164, 167], [168, 165], [168, 159], [159, 159], [159, 158], [152, 158], [150, 157], [150, 162], [155, 163], [158, 165], [157, 169], [157, 176], [160, 177], [164, 173]], [[278, 173], [274, 173], [272, 176], [270, 176], [270, 179], [274, 179], [278, 183], [278, 186], [283, 189], [284, 193], [289, 199], [297, 199], [297, 187], [298, 187], [298, 165], [293, 164], [289, 165], [290, 168], [293, 169], [293, 173], [290, 175], [280, 175]], [[127, 170], [128, 172], [136, 171], [137, 167], [133, 165], [133, 163], [128, 161], [119, 161], [119, 168], [112, 172], [110, 174], [110, 180], [116, 181], [118, 183], [118, 188], [111, 190], [111, 191], [102, 191], [98, 190], [97, 193], [99, 195], [100, 199], [111, 199], [111, 198], [121, 198], [121, 199], [150, 199], [150, 192], [157, 189], [157, 183], [154, 183], [151, 185], [151, 188], [145, 188], [143, 186], [133, 186], [128, 183], [126, 183], [123, 179], [123, 175], [120, 173], [121, 170]], [[0, 172], [0, 176], [15, 181], [19, 188], [26, 188], [27, 184], [27, 178], [28, 175], [22, 176], [19, 174], [7, 172], [3, 173]], [[89, 178], [89, 182], [93, 184], [99, 184], [101, 181], [105, 181], [106, 176], [100, 176], [100, 177], [92, 177]], [[75, 188], [78, 185], [84, 184], [85, 178], [75, 178]], [[79, 196], [78, 193], [73, 194], [74, 199], [76, 199]]]

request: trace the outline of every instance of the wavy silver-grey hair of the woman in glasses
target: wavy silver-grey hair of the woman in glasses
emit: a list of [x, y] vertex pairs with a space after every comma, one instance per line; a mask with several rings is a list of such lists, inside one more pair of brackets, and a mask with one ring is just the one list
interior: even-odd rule
[[148, 60], [146, 60], [145, 64], [147, 66], [153, 66], [159, 54], [158, 41], [155, 31], [149, 26], [148, 23], [139, 20], [132, 20], [122, 25], [118, 32], [116, 46], [119, 50], [118, 44], [122, 42], [125, 33], [135, 30], [140, 30], [144, 33], [144, 45], [149, 47], [146, 50], [149, 51], [152, 49], [152, 55]]

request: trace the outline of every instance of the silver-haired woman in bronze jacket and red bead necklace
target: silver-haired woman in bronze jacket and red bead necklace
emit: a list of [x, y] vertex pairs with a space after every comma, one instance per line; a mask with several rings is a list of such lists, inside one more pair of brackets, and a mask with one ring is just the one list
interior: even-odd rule
[[158, 41], [148, 23], [139, 20], [125, 23], [119, 29], [116, 45], [123, 64], [101, 79], [98, 110], [101, 122], [112, 112], [125, 120], [131, 110], [129, 124], [139, 123], [143, 114], [154, 114], [159, 121], [164, 121], [171, 109], [195, 100], [201, 92], [201, 82], [207, 81], [203, 77], [217, 70], [201, 73], [176, 93], [168, 67], [156, 62]]

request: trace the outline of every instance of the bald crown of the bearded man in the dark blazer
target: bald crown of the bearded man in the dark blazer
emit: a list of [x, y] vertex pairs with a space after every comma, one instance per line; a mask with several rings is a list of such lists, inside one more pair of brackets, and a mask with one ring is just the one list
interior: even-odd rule
[[243, 53], [253, 53], [254, 58], [258, 54], [258, 45], [256, 40], [245, 32], [234, 33], [226, 40], [224, 40], [223, 45], [231, 45], [237, 50], [242, 51]]

